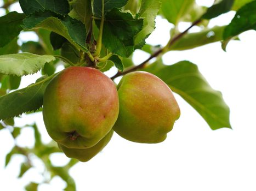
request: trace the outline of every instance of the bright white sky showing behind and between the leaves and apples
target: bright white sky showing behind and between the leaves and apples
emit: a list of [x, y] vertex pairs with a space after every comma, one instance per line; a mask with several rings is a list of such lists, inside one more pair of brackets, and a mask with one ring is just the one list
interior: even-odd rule
[[[17, 6], [13, 10], [20, 11]], [[0, 14], [3, 15], [2, 12]], [[232, 16], [234, 13], [220, 16], [210, 26], [225, 25]], [[147, 43], [165, 45], [172, 25], [160, 17], [156, 21], [156, 31]], [[186, 27], [185, 23], [180, 25], [181, 30]], [[20, 39], [35, 40], [35, 36], [24, 33], [20, 35]], [[241, 41], [231, 41], [227, 52], [221, 50], [220, 43], [213, 43], [188, 51], [172, 51], [163, 56], [166, 64], [189, 60], [198, 65], [210, 85], [223, 93], [231, 110], [233, 130], [211, 130], [203, 118], [175, 94], [181, 116], [164, 142], [138, 144], [114, 134], [101, 153], [87, 163], [78, 163], [70, 170], [77, 190], [256, 190], [256, 32], [245, 32], [240, 35], [240, 39]], [[139, 64], [147, 56], [142, 51], [136, 51], [134, 62]], [[35, 82], [38, 76], [39, 74], [24, 77], [20, 87]], [[16, 123], [22, 125], [34, 120], [42, 133], [43, 141], [49, 142], [41, 113], [16, 119]], [[30, 128], [22, 130], [18, 144], [33, 145], [33, 131]], [[22, 190], [29, 181], [42, 180], [38, 169], [44, 169], [37, 159], [34, 163], [38, 168], [26, 172], [21, 179], [16, 177], [24, 158], [13, 157], [4, 169], [4, 157], [13, 146], [8, 130], [1, 130], [0, 145], [1, 190]], [[54, 154], [52, 160], [56, 165], [69, 161], [64, 154]], [[54, 178], [50, 186], [43, 184], [39, 190], [63, 188], [65, 183], [60, 178]]]

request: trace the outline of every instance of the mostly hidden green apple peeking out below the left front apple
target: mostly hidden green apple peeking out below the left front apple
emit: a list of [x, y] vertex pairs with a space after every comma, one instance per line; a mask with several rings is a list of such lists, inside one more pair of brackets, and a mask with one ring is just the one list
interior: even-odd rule
[[76, 158], [81, 162], [87, 162], [92, 159], [96, 154], [98, 154], [103, 148], [109, 143], [112, 138], [113, 130], [111, 130], [103, 139], [101, 139], [98, 144], [90, 148], [67, 148], [64, 145], [58, 144], [59, 148], [66, 154], [69, 158]]

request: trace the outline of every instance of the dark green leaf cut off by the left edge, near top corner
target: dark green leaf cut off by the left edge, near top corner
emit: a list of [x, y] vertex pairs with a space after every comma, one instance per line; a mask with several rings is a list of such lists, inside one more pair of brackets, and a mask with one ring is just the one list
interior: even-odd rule
[[0, 47], [7, 45], [19, 35], [22, 30], [20, 25], [24, 18], [24, 14], [17, 13], [16, 11], [0, 17]]

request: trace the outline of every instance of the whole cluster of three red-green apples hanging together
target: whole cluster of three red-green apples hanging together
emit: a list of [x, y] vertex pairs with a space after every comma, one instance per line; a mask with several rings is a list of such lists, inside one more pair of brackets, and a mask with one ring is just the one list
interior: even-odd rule
[[48, 134], [67, 157], [82, 162], [100, 152], [113, 131], [134, 142], [162, 142], [179, 116], [170, 88], [144, 71], [124, 75], [116, 87], [97, 69], [69, 67], [44, 93]]

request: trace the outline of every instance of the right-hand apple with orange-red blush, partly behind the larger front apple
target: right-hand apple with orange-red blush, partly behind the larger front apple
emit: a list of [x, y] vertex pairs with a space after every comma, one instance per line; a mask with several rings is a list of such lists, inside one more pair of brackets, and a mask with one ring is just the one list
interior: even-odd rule
[[153, 74], [134, 71], [123, 76], [117, 89], [120, 112], [113, 130], [133, 142], [164, 141], [180, 116], [166, 83]]

